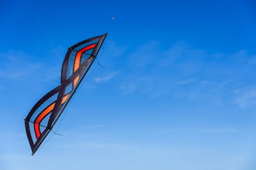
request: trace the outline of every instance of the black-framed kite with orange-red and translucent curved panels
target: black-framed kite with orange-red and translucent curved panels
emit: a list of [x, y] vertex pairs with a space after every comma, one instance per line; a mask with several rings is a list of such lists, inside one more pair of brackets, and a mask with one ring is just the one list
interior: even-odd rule
[[61, 70], [61, 84], [43, 96], [26, 116], [26, 135], [32, 155], [38, 150], [76, 93], [108, 33], [78, 42], [68, 48]]

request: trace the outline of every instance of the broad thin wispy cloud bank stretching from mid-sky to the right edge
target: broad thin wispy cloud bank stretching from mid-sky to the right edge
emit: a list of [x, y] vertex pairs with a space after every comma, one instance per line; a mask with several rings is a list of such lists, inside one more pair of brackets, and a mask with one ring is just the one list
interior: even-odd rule
[[166, 49], [151, 41], [128, 55], [130, 72], [121, 89], [124, 94], [140, 93], [153, 99], [172, 96], [223, 105], [230, 103], [235, 89], [245, 85], [245, 74], [253, 76], [252, 66], [248, 67], [253, 58], [243, 50], [211, 54], [182, 41]]

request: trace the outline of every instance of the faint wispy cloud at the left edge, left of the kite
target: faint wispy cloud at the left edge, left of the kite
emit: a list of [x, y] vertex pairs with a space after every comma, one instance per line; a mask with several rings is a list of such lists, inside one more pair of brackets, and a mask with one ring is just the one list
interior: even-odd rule
[[34, 57], [23, 51], [10, 50], [0, 53], [0, 56], [3, 59], [3, 62], [0, 63], [0, 77], [2, 78], [33, 79], [38, 82], [56, 79], [61, 74], [60, 68], [48, 65], [47, 62], [40, 60], [40, 57]]

